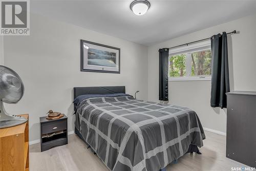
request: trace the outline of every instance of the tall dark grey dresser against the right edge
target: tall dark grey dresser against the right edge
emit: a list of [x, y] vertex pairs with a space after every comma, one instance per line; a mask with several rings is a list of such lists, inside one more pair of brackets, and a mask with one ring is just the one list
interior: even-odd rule
[[256, 167], [256, 92], [227, 93], [226, 157]]

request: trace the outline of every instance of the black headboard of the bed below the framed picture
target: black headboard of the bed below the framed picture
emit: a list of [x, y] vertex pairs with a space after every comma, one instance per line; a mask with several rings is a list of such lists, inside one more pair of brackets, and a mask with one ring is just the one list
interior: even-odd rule
[[125, 86], [109, 87], [74, 87], [74, 99], [83, 94], [125, 93]]

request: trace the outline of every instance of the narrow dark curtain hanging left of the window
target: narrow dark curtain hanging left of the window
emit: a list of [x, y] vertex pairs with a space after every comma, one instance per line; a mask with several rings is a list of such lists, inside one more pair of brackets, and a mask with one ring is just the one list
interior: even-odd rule
[[168, 56], [169, 49], [159, 49], [159, 100], [168, 101]]

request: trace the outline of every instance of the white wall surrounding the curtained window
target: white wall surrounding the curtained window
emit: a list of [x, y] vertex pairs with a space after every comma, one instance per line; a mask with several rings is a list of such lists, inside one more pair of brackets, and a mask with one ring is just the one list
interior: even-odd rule
[[[235, 29], [239, 34], [228, 36], [230, 89], [256, 91], [256, 15], [251, 15], [148, 47], [148, 100], [158, 101], [158, 49]], [[170, 81], [169, 102], [195, 110], [204, 127], [225, 133], [226, 111], [210, 107], [210, 84], [210, 81]]]

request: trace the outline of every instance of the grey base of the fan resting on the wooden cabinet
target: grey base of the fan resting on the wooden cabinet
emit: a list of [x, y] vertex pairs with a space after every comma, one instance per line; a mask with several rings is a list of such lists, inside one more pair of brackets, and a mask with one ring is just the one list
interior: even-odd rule
[[[1, 115], [1, 114], [0, 114]], [[3, 117], [0, 117], [0, 129], [4, 129], [6, 127], [11, 127], [11, 126], [16, 126], [19, 124], [23, 124], [27, 122], [27, 119], [21, 116], [10, 116], [10, 115], [5, 115]]]

